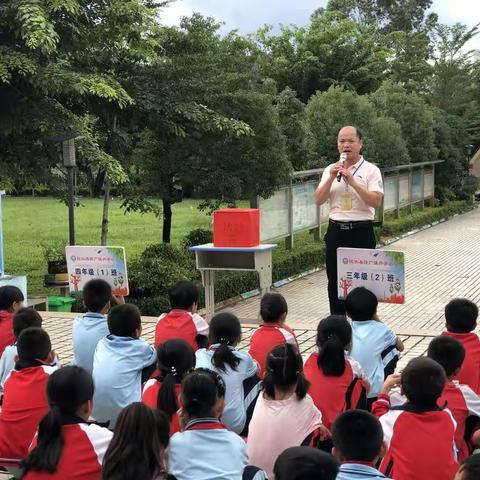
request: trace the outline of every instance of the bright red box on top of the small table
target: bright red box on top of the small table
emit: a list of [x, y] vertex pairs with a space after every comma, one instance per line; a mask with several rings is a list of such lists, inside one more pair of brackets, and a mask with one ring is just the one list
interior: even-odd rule
[[256, 247], [259, 244], [258, 208], [223, 208], [213, 212], [214, 247]]

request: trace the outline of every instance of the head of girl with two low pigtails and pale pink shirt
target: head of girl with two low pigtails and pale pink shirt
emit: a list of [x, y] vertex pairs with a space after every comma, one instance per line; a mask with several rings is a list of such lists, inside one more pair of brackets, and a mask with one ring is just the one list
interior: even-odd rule
[[305, 398], [310, 382], [303, 376], [302, 357], [293, 345], [285, 343], [273, 348], [265, 369], [263, 388], [270, 398], [275, 399], [275, 390], [287, 392], [293, 387], [299, 400]]

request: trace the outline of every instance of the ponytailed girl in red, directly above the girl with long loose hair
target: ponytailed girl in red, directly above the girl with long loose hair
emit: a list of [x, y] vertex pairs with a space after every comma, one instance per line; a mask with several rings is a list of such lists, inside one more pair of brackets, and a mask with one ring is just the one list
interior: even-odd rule
[[164, 412], [170, 422], [170, 435], [180, 431], [178, 399], [183, 377], [195, 368], [195, 352], [185, 340], [167, 340], [157, 349], [160, 375], [147, 381], [142, 402]]

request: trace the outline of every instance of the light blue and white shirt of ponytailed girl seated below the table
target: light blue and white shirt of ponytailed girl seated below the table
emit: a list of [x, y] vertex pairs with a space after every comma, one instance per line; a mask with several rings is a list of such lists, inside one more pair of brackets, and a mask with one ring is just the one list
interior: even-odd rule
[[258, 372], [257, 362], [247, 352], [238, 351], [229, 347], [234, 355], [240, 359], [237, 370], [225, 365], [226, 371], [215, 368], [212, 362], [215, 348], [219, 344], [212, 345], [209, 349], [201, 348], [195, 353], [196, 368], [208, 368], [217, 372], [225, 382], [225, 409], [221, 418], [222, 423], [232, 432], [241, 433], [245, 428], [247, 412], [244, 401], [243, 382], [253, 377]]

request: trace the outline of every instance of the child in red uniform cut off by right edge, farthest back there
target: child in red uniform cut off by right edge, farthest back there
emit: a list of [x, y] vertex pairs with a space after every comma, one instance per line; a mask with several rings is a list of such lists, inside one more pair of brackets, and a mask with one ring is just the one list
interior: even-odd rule
[[475, 333], [478, 307], [465, 298], [456, 298], [445, 307], [447, 331], [442, 335], [458, 340], [465, 347], [465, 360], [457, 380], [480, 394], [480, 339]]

